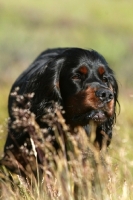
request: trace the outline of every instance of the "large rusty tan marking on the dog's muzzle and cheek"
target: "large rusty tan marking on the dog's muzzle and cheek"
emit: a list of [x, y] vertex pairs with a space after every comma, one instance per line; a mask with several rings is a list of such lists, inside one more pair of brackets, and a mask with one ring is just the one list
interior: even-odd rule
[[80, 91], [68, 99], [65, 103], [66, 118], [68, 121], [74, 115], [82, 115], [91, 110], [102, 110], [108, 116], [114, 114], [114, 99], [104, 104], [103, 107], [99, 107], [102, 101], [96, 96], [96, 90], [97, 88], [88, 87], [85, 91]]

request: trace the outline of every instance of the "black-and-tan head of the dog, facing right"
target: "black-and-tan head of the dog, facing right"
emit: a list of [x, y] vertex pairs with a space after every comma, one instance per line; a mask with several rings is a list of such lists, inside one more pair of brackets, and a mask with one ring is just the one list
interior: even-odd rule
[[114, 118], [118, 86], [105, 59], [81, 49], [64, 52], [64, 58], [59, 89], [67, 121], [85, 125], [89, 120], [100, 124]]

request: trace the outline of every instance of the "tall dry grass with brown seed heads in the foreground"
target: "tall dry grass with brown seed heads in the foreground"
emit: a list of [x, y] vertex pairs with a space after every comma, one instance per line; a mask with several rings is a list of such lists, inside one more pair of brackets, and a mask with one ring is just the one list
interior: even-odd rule
[[[2, 199], [132, 199], [132, 161], [127, 159], [124, 145], [119, 147], [124, 141], [117, 136], [118, 126], [115, 146], [112, 150], [103, 147], [99, 152], [93, 145], [94, 138], [90, 141], [82, 128], [69, 130], [58, 105], [54, 112], [47, 110], [43, 118], [52, 127], [53, 135], [48, 129], [40, 129], [35, 115], [26, 109], [29, 102], [24, 98], [17, 95], [17, 102], [24, 107], [14, 105], [16, 120], [12, 128], [22, 134], [28, 131], [29, 138], [18, 149], [12, 145], [7, 148], [0, 162]], [[111, 151], [117, 154], [111, 155]]]

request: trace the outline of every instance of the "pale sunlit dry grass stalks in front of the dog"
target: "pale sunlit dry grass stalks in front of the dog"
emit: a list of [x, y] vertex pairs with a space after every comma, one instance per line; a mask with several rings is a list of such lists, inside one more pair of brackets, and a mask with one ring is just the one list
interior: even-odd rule
[[[34, 127], [34, 131], [30, 132], [30, 137], [33, 137], [32, 154], [30, 152], [24, 154], [25, 151], [22, 150], [25, 159], [29, 160], [28, 156], [30, 155], [32, 159], [27, 163], [28, 167], [24, 166], [28, 179], [23, 179], [21, 176], [8, 171], [3, 166], [0, 167], [0, 194], [3, 199], [132, 199], [133, 161], [129, 155], [132, 148], [132, 142], [128, 135], [132, 124], [128, 123], [126, 118], [121, 118], [119, 116], [118, 122], [114, 127], [113, 140], [109, 149], [106, 152], [101, 151], [99, 153], [88, 141], [83, 130], [77, 132], [77, 135], [72, 135], [69, 132], [58, 109], [56, 110], [56, 116], [54, 113], [50, 112], [44, 119], [49, 121], [50, 117], [49, 123], [54, 128], [55, 139], [60, 146], [60, 149], [56, 152], [50, 143], [50, 140], [47, 140], [47, 137], [43, 144], [39, 142], [42, 137], [44, 137], [45, 132], [43, 133], [42, 130], [39, 129], [35, 122], [34, 115], [27, 111], [29, 117], [26, 122], [24, 120], [25, 116], [22, 118], [21, 114], [19, 117], [19, 110], [15, 109], [14, 112], [15, 116], [17, 116], [17, 122], [21, 124], [22, 127], [28, 128], [28, 126], [31, 125]], [[121, 109], [121, 114], [125, 114], [123, 108]], [[27, 125], [25, 123], [27, 123]], [[122, 126], [124, 123], [126, 124], [126, 127]], [[16, 123], [14, 125], [17, 129], [21, 127]], [[62, 129], [59, 127], [62, 127]], [[125, 132], [123, 133], [123, 131]], [[66, 144], [66, 146], [64, 144]], [[36, 145], [44, 152], [46, 159], [44, 160], [44, 165], [41, 166], [43, 173], [41, 172], [39, 182], [38, 178], [34, 180], [33, 172], [35, 173], [35, 171], [32, 171], [40, 171], [38, 168], [39, 165], [37, 165], [37, 168], [35, 167]], [[26, 148], [26, 146], [22, 149], [24, 148]], [[2, 164], [5, 166], [12, 166], [13, 163], [13, 166], [15, 166], [15, 163], [19, 161], [15, 160], [15, 158], [17, 158], [17, 152], [16, 154], [12, 154], [12, 149], [9, 149], [6, 153], [8, 157]], [[8, 162], [8, 160], [10, 161], [9, 158], [13, 162]], [[21, 160], [19, 162], [21, 162]], [[16, 166], [18, 166], [18, 164]]]

